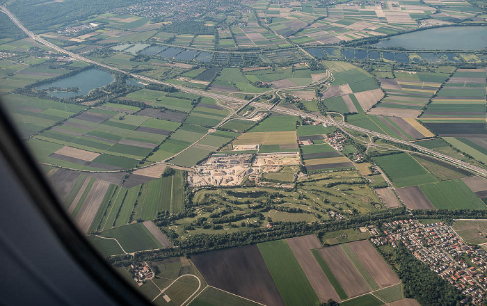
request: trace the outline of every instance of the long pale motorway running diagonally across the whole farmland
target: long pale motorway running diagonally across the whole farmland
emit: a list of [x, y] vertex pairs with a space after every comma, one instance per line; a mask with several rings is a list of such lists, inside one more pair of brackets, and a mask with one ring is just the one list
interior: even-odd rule
[[[101, 66], [101, 67], [104, 67], [106, 69], [113, 70], [113, 71], [116, 71], [116, 72], [121, 72], [121, 73], [127, 74], [127, 75], [129, 75], [129, 77], [133, 77], [135, 79], [141, 79], [143, 81], [147, 81], [147, 82], [150, 82], [150, 83], [158, 83], [158, 84], [166, 85], [166, 86], [173, 86], [173, 87], [175, 87], [175, 88], [177, 88], [179, 90], [182, 90], [184, 92], [191, 92], [191, 93], [193, 93], [195, 95], [201, 95], [203, 97], [211, 97], [211, 98], [216, 99], [217, 101], [218, 100], [221, 100], [221, 101], [227, 101], [227, 102], [237, 102], [237, 103], [240, 103], [240, 104], [243, 104], [243, 105], [245, 105], [245, 104], [252, 104], [253, 106], [255, 106], [257, 108], [261, 108], [261, 109], [270, 109], [270, 108], [272, 108], [272, 111], [277, 112], [277, 113], [285, 113], [285, 114], [288, 114], [288, 115], [296, 115], [296, 116], [300, 116], [302, 118], [311, 118], [312, 120], [320, 121], [320, 122], [327, 122], [328, 124], [333, 124], [333, 125], [336, 125], [337, 127], [346, 128], [346, 129], [352, 129], [352, 130], [359, 131], [359, 132], [364, 133], [364, 134], [369, 134], [369, 135], [372, 135], [372, 136], [376, 136], [378, 138], [390, 140], [390, 141], [393, 141], [394, 143], [400, 143], [402, 145], [408, 145], [410, 147], [414, 147], [416, 150], [418, 150], [420, 152], [423, 152], [423, 153], [426, 153], [426, 154], [430, 154], [431, 156], [435, 156], [438, 159], [442, 159], [444, 161], [448, 161], [449, 163], [453, 163], [454, 165], [456, 165], [458, 167], [461, 167], [461, 168], [470, 170], [470, 171], [476, 173], [477, 175], [481, 175], [483, 177], [487, 177], [487, 170], [486, 169], [483, 169], [483, 168], [480, 168], [480, 167], [477, 167], [477, 166], [473, 166], [470, 163], [466, 163], [465, 161], [461, 161], [459, 159], [454, 159], [451, 156], [447, 156], [445, 154], [441, 154], [439, 152], [435, 152], [433, 150], [429, 150], [426, 147], [421, 147], [420, 145], [416, 145], [415, 143], [410, 143], [410, 142], [405, 141], [405, 140], [400, 140], [400, 139], [397, 139], [397, 138], [394, 138], [394, 137], [391, 137], [391, 136], [388, 136], [388, 135], [385, 135], [385, 134], [380, 134], [380, 133], [377, 133], [375, 131], [370, 131], [370, 130], [364, 129], [362, 127], [356, 127], [356, 126], [354, 126], [352, 124], [348, 124], [348, 123], [344, 123], [344, 122], [336, 122], [332, 118], [327, 118], [327, 117], [322, 116], [322, 115], [316, 115], [316, 114], [312, 114], [312, 113], [305, 113], [303, 111], [296, 111], [296, 110], [292, 110], [292, 109], [284, 108], [284, 107], [280, 107], [280, 106], [274, 106], [274, 107], [272, 107], [269, 104], [265, 104], [265, 103], [261, 103], [261, 102], [253, 102], [253, 100], [250, 100], [250, 102], [248, 102], [247, 100], [239, 99], [237, 97], [229, 97], [229, 96], [226, 96], [226, 95], [219, 95], [219, 94], [216, 94], [214, 92], [207, 92], [205, 90], [198, 90], [198, 89], [193, 89], [193, 88], [186, 88], [184, 86], [179, 86], [179, 85], [175, 85], [175, 84], [171, 84], [171, 83], [166, 83], [166, 82], [163, 82], [163, 81], [159, 81], [159, 80], [156, 80], [156, 79], [151, 79], [149, 77], [144, 77], [144, 76], [142, 76], [140, 74], [134, 74], [134, 73], [131, 73], [131, 72], [127, 72], [125, 70], [120, 70], [119, 68], [113, 67], [111, 65], [106, 65], [104, 63], [99, 63], [97, 61], [93, 61], [90, 58], [85, 58], [85, 57], [83, 57], [83, 56], [81, 56], [79, 54], [74, 54], [71, 51], [67, 51], [66, 49], [63, 49], [61, 47], [58, 47], [57, 45], [54, 45], [51, 42], [48, 42], [47, 40], [45, 40], [43, 38], [40, 38], [38, 35], [35, 35], [35, 33], [29, 31], [28, 29], [26, 29], [26, 27], [22, 24], [22, 22], [20, 22], [19, 19], [17, 19], [17, 17], [15, 17], [15, 15], [13, 15], [13, 13], [11, 13], [10, 10], [8, 10], [5, 6], [0, 6], [0, 10], [3, 13], [5, 13], [6, 15], [8, 15], [8, 17], [10, 17], [10, 19], [12, 19], [12, 21], [20, 29], [22, 29], [22, 31], [24, 31], [24, 33], [26, 33], [27, 35], [29, 35], [29, 37], [31, 39], [39, 42], [42, 45], [45, 45], [47, 47], [50, 47], [50, 48], [52, 48], [52, 49], [54, 49], [54, 50], [56, 50], [56, 51], [58, 51], [60, 53], [67, 54], [68, 56], [70, 56], [72, 58], [75, 58], [75, 59], [77, 59], [79, 61], [83, 61], [85, 63], [90, 63], [90, 64], [93, 64], [93, 65], [98, 65], [98, 66]], [[282, 89], [285, 89], [285, 88], [280, 88], [280, 90], [282, 90]], [[225, 120], [227, 120], [227, 119], [228, 118], [225, 118]]]

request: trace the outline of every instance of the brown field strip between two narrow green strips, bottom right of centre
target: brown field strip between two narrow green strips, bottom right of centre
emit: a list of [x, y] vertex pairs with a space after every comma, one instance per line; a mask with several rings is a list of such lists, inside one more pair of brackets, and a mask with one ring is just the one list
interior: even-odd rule
[[319, 252], [349, 298], [360, 296], [360, 294], [370, 291], [369, 285], [340, 245], [321, 248]]

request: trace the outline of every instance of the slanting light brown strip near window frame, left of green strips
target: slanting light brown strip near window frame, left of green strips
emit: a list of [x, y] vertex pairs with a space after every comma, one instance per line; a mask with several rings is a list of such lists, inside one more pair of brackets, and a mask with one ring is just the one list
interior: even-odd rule
[[86, 234], [88, 233], [88, 230], [90, 230], [90, 225], [93, 223], [93, 219], [95, 219], [99, 205], [102, 204], [109, 186], [109, 182], [100, 181], [99, 179], [93, 183], [88, 195], [86, 195], [83, 206], [79, 209], [78, 214], [74, 219], [81, 232]]

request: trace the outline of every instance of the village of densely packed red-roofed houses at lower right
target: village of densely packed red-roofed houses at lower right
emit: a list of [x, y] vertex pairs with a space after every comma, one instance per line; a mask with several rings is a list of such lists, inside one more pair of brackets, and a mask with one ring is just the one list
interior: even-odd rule
[[423, 225], [417, 220], [383, 223], [384, 236], [372, 237], [375, 245], [403, 243], [413, 255], [454, 285], [467, 298], [462, 304], [484, 305], [487, 291], [487, 253], [465, 243], [443, 222]]

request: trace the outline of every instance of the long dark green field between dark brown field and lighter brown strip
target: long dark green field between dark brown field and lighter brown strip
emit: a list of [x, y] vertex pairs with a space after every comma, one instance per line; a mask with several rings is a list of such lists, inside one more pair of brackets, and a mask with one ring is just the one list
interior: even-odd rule
[[260, 243], [258, 247], [286, 305], [319, 305], [318, 296], [285, 240]]

